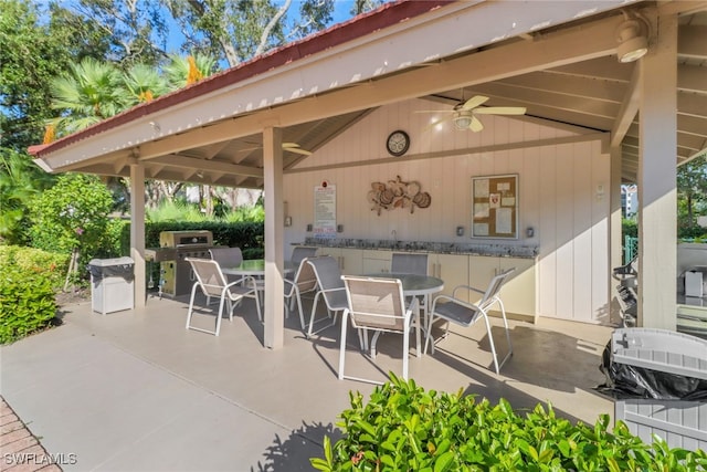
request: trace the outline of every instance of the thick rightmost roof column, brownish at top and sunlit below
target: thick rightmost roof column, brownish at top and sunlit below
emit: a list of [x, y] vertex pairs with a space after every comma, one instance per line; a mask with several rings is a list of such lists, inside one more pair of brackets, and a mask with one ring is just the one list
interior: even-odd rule
[[[655, 29], [654, 29], [655, 30]], [[677, 325], [677, 15], [659, 17], [641, 67], [639, 325]]]

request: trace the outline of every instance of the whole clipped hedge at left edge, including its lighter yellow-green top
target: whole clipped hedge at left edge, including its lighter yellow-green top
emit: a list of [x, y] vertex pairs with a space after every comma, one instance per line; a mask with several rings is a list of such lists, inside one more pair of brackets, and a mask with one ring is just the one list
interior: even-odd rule
[[56, 316], [67, 255], [0, 247], [0, 344], [44, 329]]

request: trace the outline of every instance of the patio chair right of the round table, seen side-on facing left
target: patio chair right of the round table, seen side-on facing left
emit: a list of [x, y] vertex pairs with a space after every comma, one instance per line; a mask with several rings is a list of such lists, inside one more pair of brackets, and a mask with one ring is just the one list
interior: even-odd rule
[[[432, 338], [432, 324], [435, 319], [444, 319], [446, 322], [446, 328], [444, 335], [435, 340], [432, 339], [432, 354], [434, 354], [434, 345], [436, 342], [444, 339], [447, 337], [450, 332], [450, 323], [454, 323], [460, 326], [468, 327], [475, 324], [479, 319], [484, 319], [486, 323], [486, 333], [488, 334], [488, 343], [490, 344], [490, 353], [494, 357], [494, 368], [496, 374], [499, 374], [503, 365], [508, 360], [508, 358], [513, 355], [513, 345], [510, 344], [510, 332], [508, 329], [508, 319], [506, 318], [506, 310], [504, 308], [504, 303], [500, 301], [499, 292], [503, 289], [504, 284], [508, 280], [508, 276], [515, 271], [515, 269], [509, 269], [498, 275], [496, 275], [488, 284], [488, 287], [485, 291], [474, 289], [468, 285], [458, 285], [452, 292], [452, 296], [449, 295], [439, 295], [432, 302], [432, 308], [430, 310], [430, 321], [428, 326], [426, 338], [424, 342], [424, 352], [428, 350], [428, 344], [430, 344], [430, 339]], [[481, 301], [477, 303], [468, 303], [460, 300], [457, 297], [457, 293], [461, 291], [476, 292], [482, 294]], [[498, 304], [500, 307], [500, 315], [504, 321], [504, 328], [506, 329], [506, 340], [508, 342], [508, 354], [503, 358], [500, 363], [498, 363], [498, 356], [496, 354], [496, 345], [494, 343], [494, 336], [490, 332], [490, 323], [488, 321], [488, 311], [494, 304]]]

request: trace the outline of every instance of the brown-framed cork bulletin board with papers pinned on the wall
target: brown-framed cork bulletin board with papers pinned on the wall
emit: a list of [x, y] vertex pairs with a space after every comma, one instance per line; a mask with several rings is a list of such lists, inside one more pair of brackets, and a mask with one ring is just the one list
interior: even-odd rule
[[472, 238], [518, 239], [518, 176], [472, 177]]

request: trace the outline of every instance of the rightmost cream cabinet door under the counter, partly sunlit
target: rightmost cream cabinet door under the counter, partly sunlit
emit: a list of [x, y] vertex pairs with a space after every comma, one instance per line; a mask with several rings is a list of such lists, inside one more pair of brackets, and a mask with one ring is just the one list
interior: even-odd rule
[[515, 268], [510, 279], [500, 290], [500, 300], [507, 313], [536, 315], [535, 260], [521, 258], [499, 258], [499, 270]]

